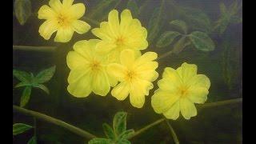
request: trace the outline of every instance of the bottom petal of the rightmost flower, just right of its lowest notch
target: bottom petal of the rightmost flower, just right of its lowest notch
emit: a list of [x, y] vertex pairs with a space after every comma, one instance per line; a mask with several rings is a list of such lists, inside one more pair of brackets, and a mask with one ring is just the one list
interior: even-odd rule
[[194, 103], [188, 98], [181, 98], [179, 102], [182, 115], [185, 119], [190, 119], [197, 115], [197, 109], [195, 108]]

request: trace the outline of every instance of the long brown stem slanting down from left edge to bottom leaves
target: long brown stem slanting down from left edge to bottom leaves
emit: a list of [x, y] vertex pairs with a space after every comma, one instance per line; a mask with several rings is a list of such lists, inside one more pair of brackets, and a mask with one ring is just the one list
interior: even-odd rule
[[90, 134], [89, 132], [87, 132], [86, 130], [82, 130], [76, 126], [72, 126], [66, 122], [63, 122], [57, 118], [52, 118], [46, 114], [41, 114], [41, 113], [38, 113], [36, 111], [33, 111], [33, 110], [26, 110], [22, 107], [19, 107], [19, 106], [13, 106], [13, 109], [15, 111], [18, 111], [22, 114], [26, 114], [26, 115], [30, 115], [30, 116], [33, 116], [34, 118], [38, 118], [38, 119], [41, 119], [41, 120], [44, 120], [46, 122], [50, 122], [50, 123], [53, 123], [57, 126], [62, 126], [64, 128], [66, 128], [67, 130], [70, 130], [72, 131], [74, 134], [78, 134], [80, 136], [82, 136], [83, 138], [97, 138], [94, 134]]

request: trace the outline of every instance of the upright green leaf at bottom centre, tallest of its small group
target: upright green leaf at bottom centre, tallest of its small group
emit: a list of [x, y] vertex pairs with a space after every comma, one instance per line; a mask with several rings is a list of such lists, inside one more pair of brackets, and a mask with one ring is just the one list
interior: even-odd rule
[[126, 112], [118, 112], [114, 115], [113, 128], [116, 135], [122, 134], [126, 130]]

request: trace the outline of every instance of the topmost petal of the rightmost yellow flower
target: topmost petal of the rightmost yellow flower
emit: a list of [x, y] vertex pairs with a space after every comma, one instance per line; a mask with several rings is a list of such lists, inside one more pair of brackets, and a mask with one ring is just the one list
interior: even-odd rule
[[186, 83], [197, 74], [197, 70], [198, 66], [184, 62], [182, 66], [178, 67], [177, 72], [182, 78], [182, 81]]

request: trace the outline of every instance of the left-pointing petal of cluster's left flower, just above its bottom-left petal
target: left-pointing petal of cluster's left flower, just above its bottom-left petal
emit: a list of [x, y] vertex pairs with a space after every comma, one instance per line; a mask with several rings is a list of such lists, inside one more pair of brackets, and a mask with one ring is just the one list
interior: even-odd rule
[[80, 78], [82, 78], [84, 75], [88, 74], [89, 71], [89, 66], [78, 66], [74, 70], [70, 71], [69, 77], [67, 78], [67, 82], [69, 82], [69, 84], [73, 84], [77, 82]]

